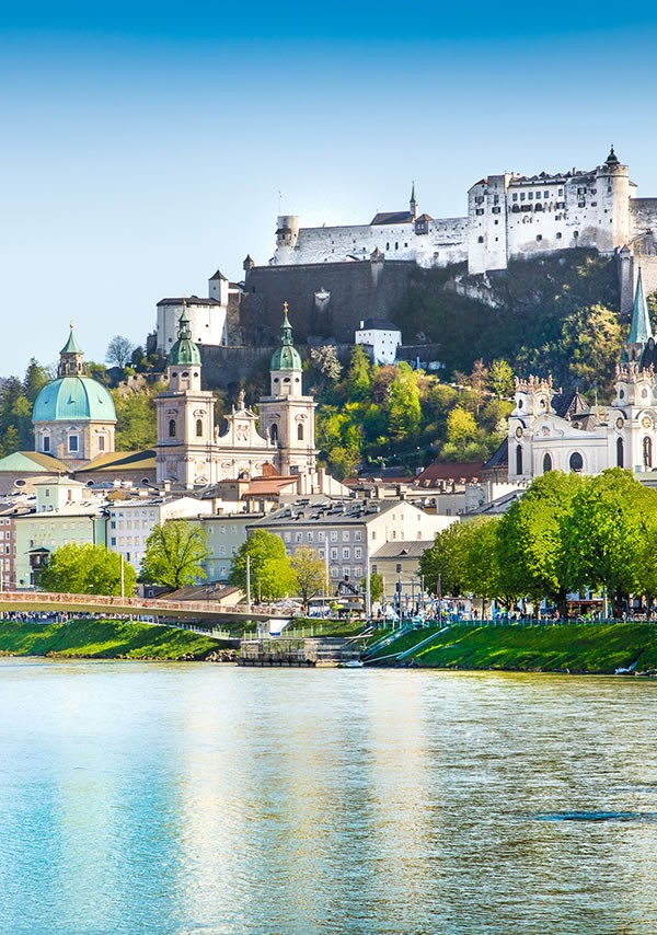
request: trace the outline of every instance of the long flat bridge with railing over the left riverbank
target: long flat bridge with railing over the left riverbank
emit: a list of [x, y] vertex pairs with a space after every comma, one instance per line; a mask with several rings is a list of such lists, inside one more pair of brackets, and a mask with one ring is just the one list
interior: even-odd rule
[[174, 620], [197, 620], [227, 623], [231, 620], [285, 621], [289, 614], [283, 614], [279, 608], [258, 604], [257, 609], [247, 604], [234, 608], [217, 607], [207, 601], [168, 601], [165, 599], [126, 598], [103, 595], [62, 595], [53, 591], [0, 591], [0, 612], [34, 613], [102, 613], [118, 616], [170, 617]]

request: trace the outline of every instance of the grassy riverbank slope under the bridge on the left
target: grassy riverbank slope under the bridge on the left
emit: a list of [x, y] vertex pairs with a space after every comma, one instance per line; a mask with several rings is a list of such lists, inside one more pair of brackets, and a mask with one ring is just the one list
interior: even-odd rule
[[187, 630], [72, 620], [69, 623], [0, 621], [0, 654], [88, 659], [207, 659], [228, 644]]

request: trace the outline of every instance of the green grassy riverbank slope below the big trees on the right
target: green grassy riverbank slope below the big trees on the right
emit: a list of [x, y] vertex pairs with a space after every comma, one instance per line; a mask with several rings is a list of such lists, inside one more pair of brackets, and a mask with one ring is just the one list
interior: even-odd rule
[[[506, 669], [519, 672], [609, 673], [618, 668], [657, 671], [657, 625], [647, 623], [561, 626], [451, 626], [404, 663], [436, 669]], [[415, 631], [380, 650], [403, 653], [430, 636]], [[374, 660], [377, 656], [373, 657]], [[394, 658], [382, 665], [395, 665]]]

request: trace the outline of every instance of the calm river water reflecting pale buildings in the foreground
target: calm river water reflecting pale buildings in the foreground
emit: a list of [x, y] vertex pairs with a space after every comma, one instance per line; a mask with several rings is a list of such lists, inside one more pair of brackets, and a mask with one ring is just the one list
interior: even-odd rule
[[0, 931], [654, 933], [657, 685], [0, 660]]

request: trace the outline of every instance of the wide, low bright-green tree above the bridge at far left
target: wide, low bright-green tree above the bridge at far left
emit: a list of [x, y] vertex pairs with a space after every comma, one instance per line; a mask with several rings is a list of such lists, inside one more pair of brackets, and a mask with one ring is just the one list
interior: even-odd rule
[[[69, 542], [53, 552], [37, 584], [45, 591], [68, 595], [120, 595], [120, 555], [104, 545]], [[124, 593], [131, 595], [137, 572], [128, 562], [123, 566]]]

